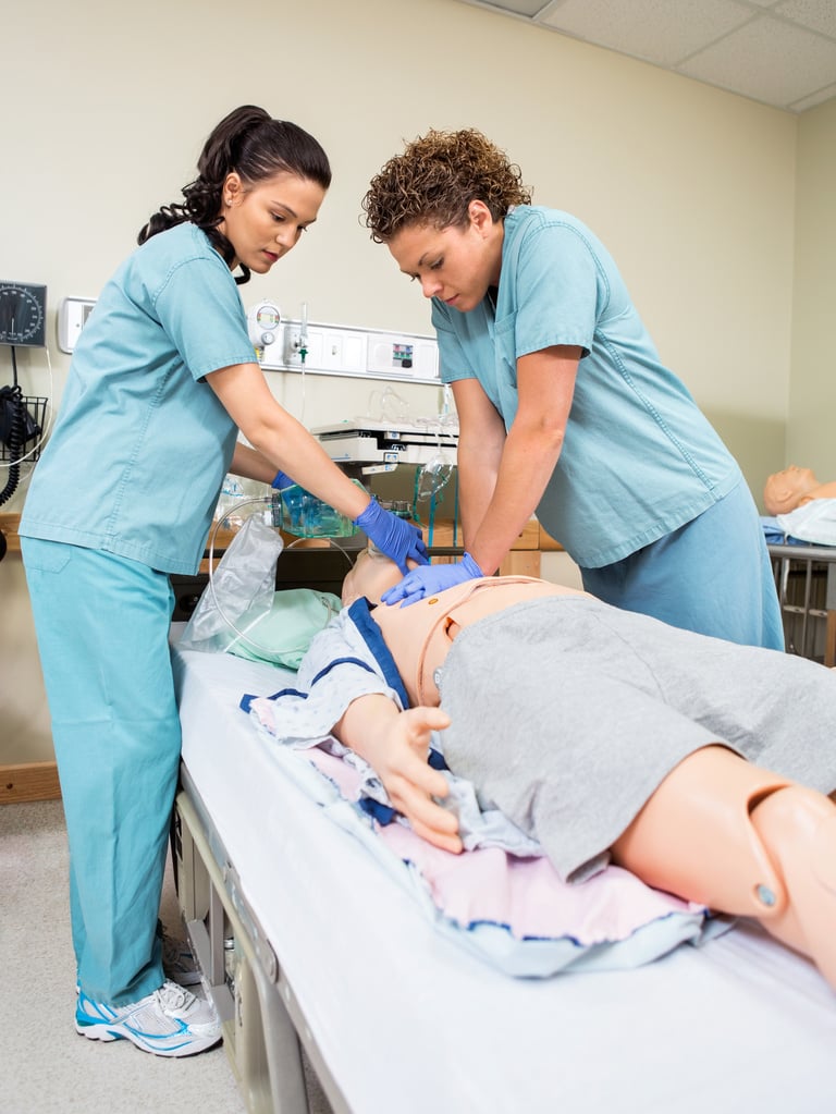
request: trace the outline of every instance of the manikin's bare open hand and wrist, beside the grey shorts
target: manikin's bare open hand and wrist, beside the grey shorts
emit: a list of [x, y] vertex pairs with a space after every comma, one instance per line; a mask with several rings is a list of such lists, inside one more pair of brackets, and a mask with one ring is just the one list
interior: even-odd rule
[[389, 697], [370, 693], [348, 705], [333, 733], [368, 762], [393, 807], [419, 836], [458, 853], [462, 841], [456, 818], [433, 800], [447, 795], [446, 779], [426, 761], [431, 733], [449, 725], [440, 707], [401, 712]]

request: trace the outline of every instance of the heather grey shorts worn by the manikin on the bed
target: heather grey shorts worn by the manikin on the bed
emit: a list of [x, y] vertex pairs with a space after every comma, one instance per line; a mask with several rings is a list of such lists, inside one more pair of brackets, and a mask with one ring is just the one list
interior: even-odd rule
[[580, 880], [686, 755], [725, 743], [781, 776], [836, 788], [836, 673], [550, 596], [465, 627], [440, 676], [453, 772]]

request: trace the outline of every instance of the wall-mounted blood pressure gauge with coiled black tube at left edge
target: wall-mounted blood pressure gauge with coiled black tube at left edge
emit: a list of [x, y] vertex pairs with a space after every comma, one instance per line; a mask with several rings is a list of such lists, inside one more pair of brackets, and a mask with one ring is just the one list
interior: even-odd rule
[[12, 368], [11, 387], [0, 387], [0, 467], [6, 467], [9, 472], [0, 491], [0, 506], [14, 495], [20, 482], [20, 466], [28, 460], [38, 460], [47, 436], [49, 399], [23, 394], [17, 355], [19, 346], [42, 348], [51, 383], [46, 320], [46, 286], [0, 282], [0, 344], [9, 345]]

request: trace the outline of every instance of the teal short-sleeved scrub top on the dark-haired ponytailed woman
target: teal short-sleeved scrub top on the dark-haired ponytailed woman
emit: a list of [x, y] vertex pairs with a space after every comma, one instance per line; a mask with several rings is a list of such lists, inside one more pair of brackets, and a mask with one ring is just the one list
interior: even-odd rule
[[255, 359], [206, 234], [186, 223], [153, 236], [79, 336], [20, 534], [194, 573], [237, 437], [205, 377]]

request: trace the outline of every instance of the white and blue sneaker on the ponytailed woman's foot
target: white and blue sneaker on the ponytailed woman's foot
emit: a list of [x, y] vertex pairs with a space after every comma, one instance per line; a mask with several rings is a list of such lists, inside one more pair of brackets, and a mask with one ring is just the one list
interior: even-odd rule
[[174, 983], [128, 1006], [106, 1006], [81, 990], [76, 1032], [90, 1040], [130, 1040], [155, 1056], [194, 1056], [217, 1044], [220, 1019], [212, 1003]]

